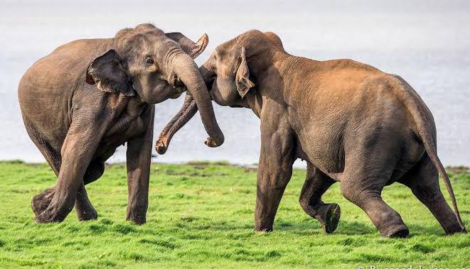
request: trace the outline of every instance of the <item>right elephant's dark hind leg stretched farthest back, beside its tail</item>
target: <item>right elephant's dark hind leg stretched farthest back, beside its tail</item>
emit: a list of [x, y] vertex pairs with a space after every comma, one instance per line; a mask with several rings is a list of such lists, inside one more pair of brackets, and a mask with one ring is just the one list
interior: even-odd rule
[[439, 188], [439, 176], [431, 160], [424, 153], [422, 159], [400, 180], [410, 187], [420, 200], [439, 221], [446, 234], [465, 232], [459, 225], [455, 213], [449, 207]]

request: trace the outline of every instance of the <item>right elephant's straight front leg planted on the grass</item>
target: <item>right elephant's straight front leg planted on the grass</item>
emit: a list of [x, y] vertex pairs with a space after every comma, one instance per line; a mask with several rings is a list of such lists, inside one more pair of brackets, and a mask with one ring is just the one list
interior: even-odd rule
[[[277, 124], [282, 124], [282, 119]], [[287, 131], [289, 130], [289, 131]], [[262, 123], [255, 230], [272, 231], [282, 194], [292, 176], [294, 139], [287, 124]]]

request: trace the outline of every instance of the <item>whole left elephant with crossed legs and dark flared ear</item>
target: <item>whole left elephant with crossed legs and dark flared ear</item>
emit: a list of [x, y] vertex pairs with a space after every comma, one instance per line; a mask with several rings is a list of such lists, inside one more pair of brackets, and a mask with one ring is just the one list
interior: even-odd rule
[[34, 63], [18, 85], [26, 131], [58, 177], [33, 197], [38, 223], [60, 222], [75, 206], [80, 221], [97, 219], [85, 185], [127, 143], [128, 221], [146, 222], [154, 104], [188, 89], [210, 146], [224, 141], [208, 89], [193, 58], [208, 44], [152, 24], [114, 38], [75, 40]]

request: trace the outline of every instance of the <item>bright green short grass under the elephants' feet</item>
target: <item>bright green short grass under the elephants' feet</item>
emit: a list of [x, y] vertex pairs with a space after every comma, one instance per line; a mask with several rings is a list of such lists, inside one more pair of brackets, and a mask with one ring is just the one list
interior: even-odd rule
[[[295, 170], [272, 233], [252, 230], [256, 170], [228, 163], [151, 165], [147, 223], [124, 221], [124, 165], [107, 166], [87, 192], [99, 220], [36, 224], [30, 201], [55, 183], [48, 165], [0, 162], [0, 267], [43, 268], [382, 268], [470, 267], [470, 236], [444, 236], [432, 214], [406, 187], [386, 187], [383, 197], [410, 227], [405, 239], [380, 238], [339, 185], [324, 195], [341, 206], [334, 234], [298, 203], [305, 171]], [[452, 173], [461, 214], [470, 221], [470, 174]], [[445, 192], [444, 192], [445, 193]], [[448, 197], [446, 195], [446, 197]]]

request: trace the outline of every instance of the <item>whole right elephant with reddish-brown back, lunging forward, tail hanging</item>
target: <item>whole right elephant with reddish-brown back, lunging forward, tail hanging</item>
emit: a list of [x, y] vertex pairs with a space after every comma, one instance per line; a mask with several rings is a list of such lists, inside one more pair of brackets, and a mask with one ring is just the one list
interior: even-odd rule
[[[348, 59], [290, 55], [278, 35], [260, 31], [218, 45], [200, 70], [217, 104], [251, 109], [260, 118], [255, 230], [272, 231], [292, 164], [301, 158], [306, 181], [299, 204], [326, 233], [336, 230], [341, 215], [338, 204], [321, 199], [335, 182], [383, 237], [409, 234], [400, 214], [381, 197], [393, 182], [410, 187], [446, 234], [466, 231], [437, 156], [433, 116], [401, 77]], [[173, 134], [197, 109], [187, 93], [156, 142], [158, 153], [166, 152]], [[454, 212], [439, 189], [438, 173]]]

